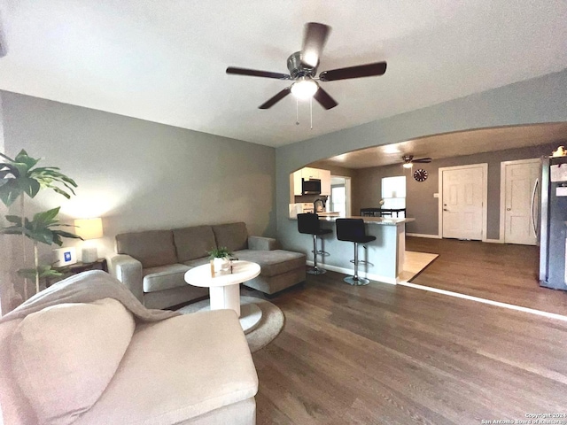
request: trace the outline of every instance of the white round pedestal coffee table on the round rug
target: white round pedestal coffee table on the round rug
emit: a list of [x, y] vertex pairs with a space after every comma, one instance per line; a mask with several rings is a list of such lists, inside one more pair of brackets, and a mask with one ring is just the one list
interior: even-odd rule
[[237, 312], [240, 326], [245, 334], [251, 332], [262, 318], [260, 307], [255, 304], [240, 306], [240, 283], [260, 274], [260, 265], [251, 261], [232, 261], [230, 270], [211, 275], [211, 265], [193, 267], [185, 273], [185, 282], [193, 286], [208, 288], [211, 298], [209, 307], [203, 310], [232, 309]]

